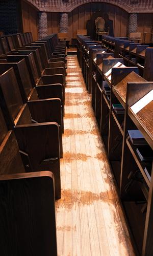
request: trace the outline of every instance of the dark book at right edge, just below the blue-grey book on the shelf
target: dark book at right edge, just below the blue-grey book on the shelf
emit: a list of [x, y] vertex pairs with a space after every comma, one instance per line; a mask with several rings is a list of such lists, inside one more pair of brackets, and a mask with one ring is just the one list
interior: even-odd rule
[[149, 146], [138, 146], [136, 151], [141, 161], [149, 162], [153, 160], [153, 151]]

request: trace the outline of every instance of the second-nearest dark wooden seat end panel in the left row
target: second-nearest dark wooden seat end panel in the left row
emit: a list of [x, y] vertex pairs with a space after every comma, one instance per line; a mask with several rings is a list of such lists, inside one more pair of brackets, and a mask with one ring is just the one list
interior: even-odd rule
[[55, 197], [61, 198], [59, 125], [56, 122], [18, 124], [14, 132], [20, 150], [29, 155], [33, 171], [52, 170]]

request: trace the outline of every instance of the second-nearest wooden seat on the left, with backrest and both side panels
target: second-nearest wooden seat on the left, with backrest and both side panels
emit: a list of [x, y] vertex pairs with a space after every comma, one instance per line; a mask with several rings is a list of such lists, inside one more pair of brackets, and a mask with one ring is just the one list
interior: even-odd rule
[[[13, 68], [0, 76], [0, 105], [19, 148], [28, 154], [34, 171], [52, 170], [55, 195], [61, 197], [59, 125], [55, 122], [57, 100], [23, 104]], [[55, 106], [56, 101], [56, 106]]]

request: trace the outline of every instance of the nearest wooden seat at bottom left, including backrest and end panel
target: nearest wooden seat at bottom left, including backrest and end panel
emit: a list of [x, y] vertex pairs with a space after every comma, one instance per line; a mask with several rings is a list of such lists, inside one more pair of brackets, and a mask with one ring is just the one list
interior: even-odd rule
[[22, 162], [23, 152], [1, 108], [0, 123], [1, 254], [57, 256], [53, 173], [25, 173], [30, 171], [28, 158]]

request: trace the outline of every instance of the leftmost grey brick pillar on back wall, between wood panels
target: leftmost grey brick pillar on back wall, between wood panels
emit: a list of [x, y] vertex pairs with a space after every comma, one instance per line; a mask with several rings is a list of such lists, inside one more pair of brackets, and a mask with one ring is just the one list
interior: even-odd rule
[[38, 36], [39, 39], [47, 35], [47, 13], [38, 12]]

